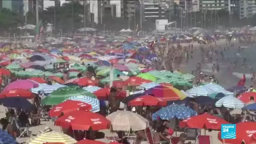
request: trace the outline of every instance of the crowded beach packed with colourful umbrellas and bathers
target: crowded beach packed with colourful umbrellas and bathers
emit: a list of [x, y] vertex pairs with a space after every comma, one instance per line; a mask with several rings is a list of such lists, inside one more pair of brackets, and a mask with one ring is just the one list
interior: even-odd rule
[[[256, 143], [256, 74], [246, 58], [226, 54], [254, 40], [224, 33], [1, 43], [0, 142]], [[246, 72], [234, 78], [240, 67]], [[236, 124], [235, 139], [222, 139], [222, 124]]]

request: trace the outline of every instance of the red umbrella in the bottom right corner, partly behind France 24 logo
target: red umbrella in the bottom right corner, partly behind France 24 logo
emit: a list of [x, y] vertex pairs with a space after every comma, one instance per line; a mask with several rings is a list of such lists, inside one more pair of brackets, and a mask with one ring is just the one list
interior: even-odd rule
[[242, 141], [245, 144], [256, 143], [255, 139], [256, 123], [255, 122], [240, 122], [236, 124], [235, 133], [230, 131], [227, 139], [221, 139], [221, 132], [218, 133], [218, 139], [226, 144], [241, 144]]

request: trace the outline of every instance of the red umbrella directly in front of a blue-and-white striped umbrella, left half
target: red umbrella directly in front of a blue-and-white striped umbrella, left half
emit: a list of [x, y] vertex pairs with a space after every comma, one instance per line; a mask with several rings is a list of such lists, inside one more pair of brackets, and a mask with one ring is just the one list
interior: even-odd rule
[[59, 117], [62, 113], [67, 114], [77, 110], [90, 111], [91, 109], [91, 104], [81, 101], [67, 100], [54, 106], [48, 113], [50, 117]]

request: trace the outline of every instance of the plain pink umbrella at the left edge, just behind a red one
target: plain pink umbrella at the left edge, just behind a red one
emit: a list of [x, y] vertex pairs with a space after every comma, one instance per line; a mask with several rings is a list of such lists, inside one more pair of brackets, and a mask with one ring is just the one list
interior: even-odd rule
[[32, 81], [32, 80], [16, 80], [16, 81], [10, 83], [9, 85], [7, 85], [3, 89], [2, 92], [12, 90], [14, 88], [29, 90], [31, 88], [37, 88], [37, 87], [39, 87], [39, 85], [36, 82]]

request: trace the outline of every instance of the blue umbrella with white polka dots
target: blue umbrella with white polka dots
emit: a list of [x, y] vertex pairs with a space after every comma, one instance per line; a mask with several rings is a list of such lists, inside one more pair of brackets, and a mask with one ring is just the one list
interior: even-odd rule
[[184, 105], [172, 104], [153, 113], [152, 120], [157, 120], [158, 117], [162, 120], [170, 120], [173, 117], [184, 120], [195, 115], [197, 115], [196, 111], [189, 109]]

